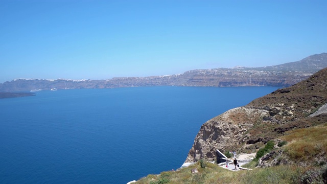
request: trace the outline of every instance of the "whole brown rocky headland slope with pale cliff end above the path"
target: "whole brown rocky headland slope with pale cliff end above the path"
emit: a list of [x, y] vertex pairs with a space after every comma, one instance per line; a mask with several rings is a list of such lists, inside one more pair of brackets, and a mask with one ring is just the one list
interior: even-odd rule
[[[204, 123], [185, 162], [214, 160], [216, 149], [250, 152], [255, 144], [266, 143], [285, 131], [325, 122], [326, 103], [327, 68], [324, 68], [305, 81], [278, 89]], [[317, 110], [319, 113], [313, 114]]]

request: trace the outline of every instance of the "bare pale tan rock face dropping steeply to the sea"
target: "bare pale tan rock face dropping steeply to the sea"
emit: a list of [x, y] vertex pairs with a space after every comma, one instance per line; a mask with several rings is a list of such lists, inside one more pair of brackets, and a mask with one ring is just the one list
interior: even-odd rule
[[261, 121], [269, 111], [251, 107], [230, 109], [218, 117], [204, 123], [185, 162], [197, 162], [199, 159], [214, 160], [216, 149], [230, 151], [233, 146], [249, 140], [245, 132], [253, 122]]

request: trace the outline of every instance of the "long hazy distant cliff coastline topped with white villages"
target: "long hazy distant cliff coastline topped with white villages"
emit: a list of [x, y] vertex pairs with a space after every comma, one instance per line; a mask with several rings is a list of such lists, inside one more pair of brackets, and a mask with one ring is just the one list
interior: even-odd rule
[[327, 67], [327, 53], [315, 54], [300, 61], [265, 67], [214, 68], [192, 70], [183, 74], [150, 77], [116, 77], [107, 80], [15, 79], [0, 83], [0, 91], [32, 89], [82, 89], [138, 86], [281, 86], [288, 87]]

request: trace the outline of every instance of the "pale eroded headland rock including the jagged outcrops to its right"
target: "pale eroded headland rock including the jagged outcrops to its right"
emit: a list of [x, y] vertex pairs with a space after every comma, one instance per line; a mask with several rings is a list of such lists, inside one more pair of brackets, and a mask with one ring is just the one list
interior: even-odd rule
[[[213, 161], [216, 149], [224, 152], [235, 150], [235, 147], [243, 143], [245, 147], [258, 142], [267, 143], [272, 137], [252, 136], [251, 132], [256, 132], [253, 126], [262, 123], [281, 126], [296, 119], [294, 114], [297, 109], [293, 106], [280, 103], [263, 107], [247, 105], [220, 114], [201, 126], [185, 162], [197, 162], [201, 158]], [[274, 131], [278, 133], [279, 129], [276, 128]]]

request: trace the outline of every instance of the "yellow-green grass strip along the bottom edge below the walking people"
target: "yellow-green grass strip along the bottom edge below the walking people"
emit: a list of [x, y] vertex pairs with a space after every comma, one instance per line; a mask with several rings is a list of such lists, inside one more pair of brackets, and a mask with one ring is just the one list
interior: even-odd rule
[[[198, 173], [192, 174], [191, 170], [197, 168]], [[201, 168], [199, 164], [183, 168], [180, 171], [162, 172], [160, 175], [148, 175], [136, 183], [160, 183], [160, 179], [169, 179], [168, 183], [296, 183], [304, 168], [295, 166], [276, 166], [252, 171], [232, 172], [220, 168], [215, 164], [208, 164]]]

